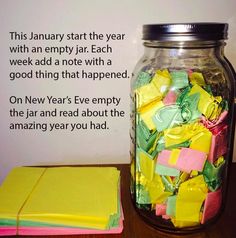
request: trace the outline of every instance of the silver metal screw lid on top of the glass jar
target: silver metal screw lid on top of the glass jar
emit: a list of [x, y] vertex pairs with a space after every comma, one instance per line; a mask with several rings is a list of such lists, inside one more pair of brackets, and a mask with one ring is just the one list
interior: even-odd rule
[[200, 22], [143, 25], [143, 40], [224, 40], [227, 39], [227, 36], [227, 23]]

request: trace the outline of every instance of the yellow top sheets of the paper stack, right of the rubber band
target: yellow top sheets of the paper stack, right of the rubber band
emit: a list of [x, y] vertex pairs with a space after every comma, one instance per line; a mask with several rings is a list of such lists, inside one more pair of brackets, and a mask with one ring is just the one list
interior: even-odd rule
[[113, 167], [49, 168], [20, 219], [106, 229], [110, 215], [117, 213], [118, 183], [119, 171]]

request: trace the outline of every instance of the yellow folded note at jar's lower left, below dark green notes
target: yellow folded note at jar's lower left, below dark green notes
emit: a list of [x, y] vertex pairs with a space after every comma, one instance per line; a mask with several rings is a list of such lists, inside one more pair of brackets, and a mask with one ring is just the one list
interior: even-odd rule
[[155, 169], [155, 162], [148, 153], [145, 151], [139, 149], [138, 150], [138, 157], [139, 157], [139, 163], [140, 163], [140, 170], [141, 173], [148, 179], [152, 180], [154, 176], [154, 169]]

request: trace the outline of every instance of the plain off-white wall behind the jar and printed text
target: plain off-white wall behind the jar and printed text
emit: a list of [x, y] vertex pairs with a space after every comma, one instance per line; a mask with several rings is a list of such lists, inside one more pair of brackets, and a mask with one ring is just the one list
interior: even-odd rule
[[[0, 7], [0, 181], [14, 166], [43, 164], [129, 163], [129, 80], [11, 82], [9, 31], [125, 33], [114, 45], [114, 70], [131, 74], [142, 55], [141, 30], [147, 23], [227, 22], [226, 55], [236, 68], [235, 0], [2, 0]], [[116, 43], [114, 43], [116, 44]], [[122, 98], [123, 119], [110, 119], [110, 130], [78, 133], [9, 132], [10, 95], [80, 95]]]

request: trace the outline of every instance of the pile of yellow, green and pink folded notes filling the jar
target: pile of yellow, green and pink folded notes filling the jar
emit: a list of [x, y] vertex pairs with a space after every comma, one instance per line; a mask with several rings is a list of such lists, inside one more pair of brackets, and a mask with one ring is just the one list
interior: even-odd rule
[[163, 69], [141, 71], [135, 85], [136, 203], [174, 227], [205, 224], [222, 206], [229, 107], [209, 80]]

